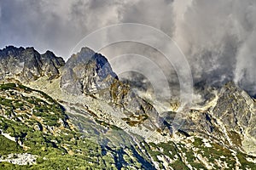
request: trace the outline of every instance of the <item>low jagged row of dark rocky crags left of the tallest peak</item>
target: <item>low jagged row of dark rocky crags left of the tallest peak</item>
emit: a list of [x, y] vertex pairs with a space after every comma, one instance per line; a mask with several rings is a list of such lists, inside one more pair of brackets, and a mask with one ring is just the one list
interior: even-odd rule
[[52, 79], [59, 76], [65, 61], [50, 51], [39, 54], [34, 48], [8, 46], [0, 50], [0, 81], [29, 82], [38, 77]]

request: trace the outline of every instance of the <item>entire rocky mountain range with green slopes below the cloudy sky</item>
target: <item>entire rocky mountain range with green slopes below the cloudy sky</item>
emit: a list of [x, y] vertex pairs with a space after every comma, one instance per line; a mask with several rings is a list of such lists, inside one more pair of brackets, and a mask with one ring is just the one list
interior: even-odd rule
[[256, 168], [255, 100], [233, 82], [197, 85], [201, 100], [177, 112], [90, 48], [67, 63], [12, 46], [0, 59], [0, 169]]

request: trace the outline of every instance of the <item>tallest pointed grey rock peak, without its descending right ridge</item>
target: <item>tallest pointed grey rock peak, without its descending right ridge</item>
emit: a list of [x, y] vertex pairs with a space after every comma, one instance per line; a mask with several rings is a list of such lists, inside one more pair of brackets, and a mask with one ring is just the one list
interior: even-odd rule
[[71, 94], [95, 94], [109, 88], [118, 79], [108, 59], [90, 48], [82, 48], [73, 54], [61, 77], [61, 88]]

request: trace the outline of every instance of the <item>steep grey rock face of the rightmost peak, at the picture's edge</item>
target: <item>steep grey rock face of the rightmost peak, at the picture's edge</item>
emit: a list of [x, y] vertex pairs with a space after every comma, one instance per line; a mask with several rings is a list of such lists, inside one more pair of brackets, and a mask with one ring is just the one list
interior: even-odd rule
[[230, 144], [241, 147], [247, 153], [256, 153], [255, 102], [233, 82], [227, 83], [218, 94], [212, 116], [221, 122]]

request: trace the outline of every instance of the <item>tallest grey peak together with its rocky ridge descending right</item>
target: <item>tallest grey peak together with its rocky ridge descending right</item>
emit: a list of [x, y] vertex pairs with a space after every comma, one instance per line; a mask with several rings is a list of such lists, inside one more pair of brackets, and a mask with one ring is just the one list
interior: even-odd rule
[[[93, 95], [119, 111], [130, 126], [143, 125], [156, 129], [159, 114], [146, 100], [133, 93], [130, 86], [119, 81], [108, 59], [90, 48], [82, 48], [67, 60], [61, 77], [61, 88], [69, 94]], [[108, 120], [109, 121], [109, 120]]]

